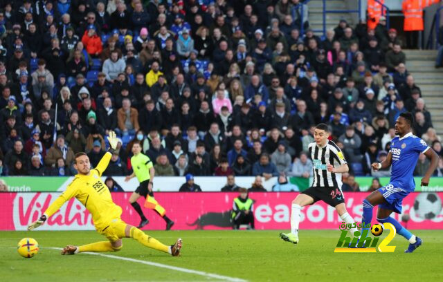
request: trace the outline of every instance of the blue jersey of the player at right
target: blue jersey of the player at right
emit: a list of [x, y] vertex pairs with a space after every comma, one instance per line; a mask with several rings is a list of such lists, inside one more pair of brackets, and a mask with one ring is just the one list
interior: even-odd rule
[[415, 189], [413, 172], [420, 153], [429, 149], [426, 142], [413, 133], [392, 139], [390, 153], [392, 153], [392, 171], [390, 182], [398, 185], [404, 191], [412, 192]]

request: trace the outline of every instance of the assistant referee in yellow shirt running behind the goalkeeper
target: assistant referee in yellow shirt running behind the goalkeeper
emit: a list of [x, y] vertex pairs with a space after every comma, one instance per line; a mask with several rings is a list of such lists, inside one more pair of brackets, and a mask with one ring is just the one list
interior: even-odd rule
[[134, 156], [131, 158], [131, 165], [134, 172], [130, 176], [126, 176], [125, 181], [129, 181], [134, 176], [137, 177], [140, 185], [137, 187], [136, 191], [132, 193], [131, 197], [129, 197], [129, 203], [131, 203], [132, 207], [136, 210], [137, 214], [140, 216], [141, 221], [138, 228], [141, 228], [147, 223], [149, 220], [143, 214], [140, 205], [138, 205], [137, 200], [141, 196], [146, 198], [145, 207], [153, 209], [159, 216], [163, 218], [166, 222], [166, 230], [171, 229], [174, 222], [166, 216], [165, 209], [154, 199], [154, 192], [152, 191], [152, 185], [155, 175], [154, 166], [152, 165], [152, 161], [150, 158], [143, 153], [141, 153], [141, 143], [136, 140], [134, 144], [132, 144], [132, 153]]

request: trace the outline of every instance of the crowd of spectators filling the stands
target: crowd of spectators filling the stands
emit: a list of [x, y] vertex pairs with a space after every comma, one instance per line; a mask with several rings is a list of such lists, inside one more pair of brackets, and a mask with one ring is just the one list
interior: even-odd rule
[[138, 140], [156, 176], [309, 178], [320, 122], [353, 174], [389, 176], [370, 164], [404, 111], [441, 156], [397, 30], [342, 19], [319, 37], [300, 2], [0, 1], [1, 176], [73, 175], [116, 131], [106, 176], [130, 173]]

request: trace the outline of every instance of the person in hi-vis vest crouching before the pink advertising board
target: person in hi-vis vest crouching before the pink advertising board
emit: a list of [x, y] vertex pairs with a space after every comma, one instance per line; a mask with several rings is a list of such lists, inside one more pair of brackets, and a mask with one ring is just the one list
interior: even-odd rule
[[239, 196], [233, 202], [233, 229], [240, 225], [248, 225], [247, 229], [254, 229], [253, 200], [248, 198], [248, 190], [239, 188]]

